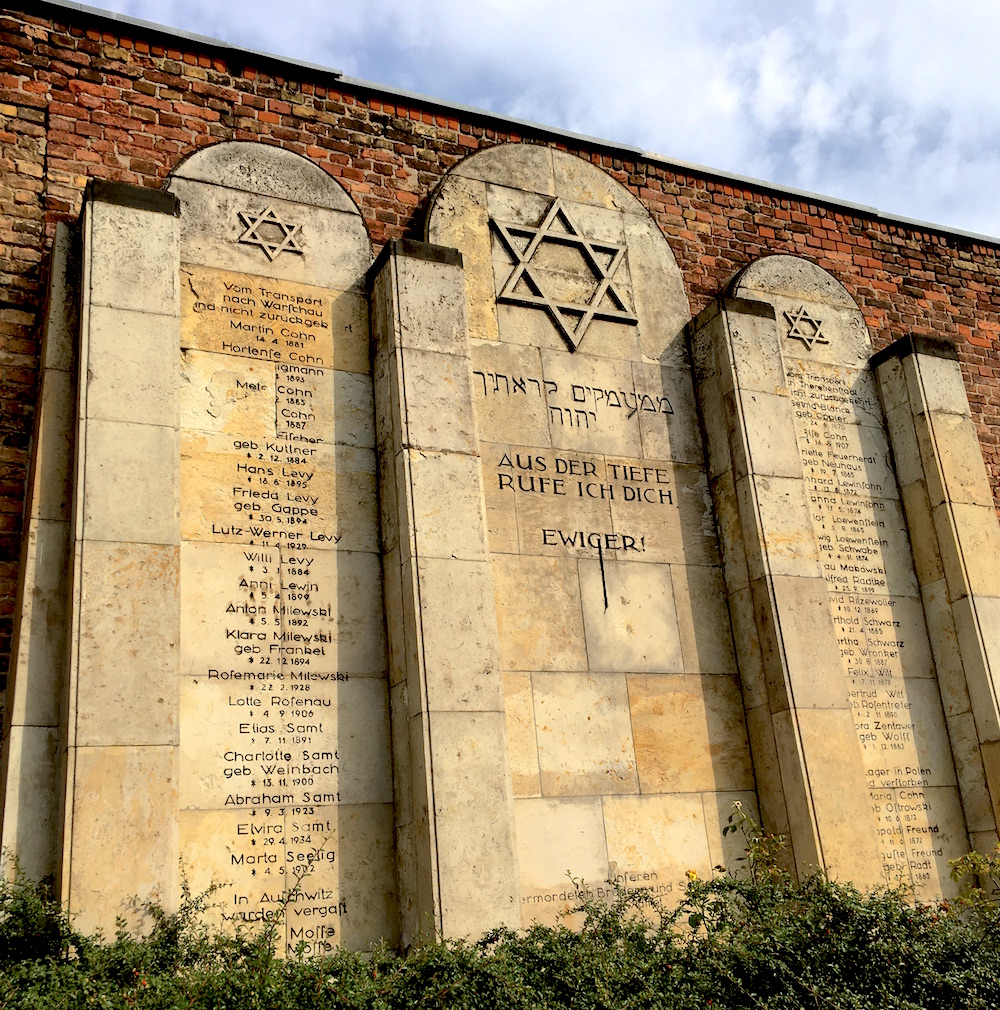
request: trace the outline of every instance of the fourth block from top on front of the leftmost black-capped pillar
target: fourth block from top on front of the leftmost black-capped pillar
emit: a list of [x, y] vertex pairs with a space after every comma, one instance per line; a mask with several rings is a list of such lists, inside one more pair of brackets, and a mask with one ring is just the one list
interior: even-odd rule
[[176, 743], [178, 547], [89, 540], [80, 559], [77, 745]]

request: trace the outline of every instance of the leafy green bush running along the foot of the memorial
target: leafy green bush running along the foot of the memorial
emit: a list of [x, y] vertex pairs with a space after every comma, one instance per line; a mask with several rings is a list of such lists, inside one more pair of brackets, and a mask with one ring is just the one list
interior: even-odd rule
[[781, 839], [741, 811], [746, 866], [699, 880], [667, 909], [645, 891], [586, 901], [579, 930], [496, 929], [478, 942], [406, 955], [278, 957], [272, 923], [211, 934], [208, 895], [151, 908], [147, 935], [78, 933], [23, 878], [0, 884], [0, 1008], [142, 1010], [868, 1010], [1000, 1006], [1000, 853], [971, 853], [955, 875], [975, 886], [948, 905], [899, 890], [867, 893], [781, 869]]

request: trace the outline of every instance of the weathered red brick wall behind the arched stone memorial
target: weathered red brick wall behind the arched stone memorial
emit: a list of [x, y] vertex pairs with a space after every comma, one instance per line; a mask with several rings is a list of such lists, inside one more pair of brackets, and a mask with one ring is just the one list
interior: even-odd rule
[[684, 272], [693, 313], [758, 257], [808, 257], [855, 296], [877, 346], [914, 331], [957, 341], [1000, 503], [997, 245], [515, 132], [432, 103], [401, 104], [333, 75], [247, 63], [232, 49], [195, 48], [110, 19], [44, 4], [32, 10], [0, 13], [0, 676], [56, 223], [77, 216], [88, 178], [159, 187], [185, 154], [218, 140], [279, 144], [315, 162], [357, 202], [376, 247], [420, 234], [434, 187], [470, 153], [505, 141], [568, 149], [649, 209]]

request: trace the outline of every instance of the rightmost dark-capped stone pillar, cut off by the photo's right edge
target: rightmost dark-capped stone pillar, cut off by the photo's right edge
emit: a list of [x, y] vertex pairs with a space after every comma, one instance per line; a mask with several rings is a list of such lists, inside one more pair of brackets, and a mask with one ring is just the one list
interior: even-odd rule
[[1000, 526], [993, 494], [955, 346], [908, 336], [876, 355], [872, 367], [970, 842], [988, 851], [1000, 816]]

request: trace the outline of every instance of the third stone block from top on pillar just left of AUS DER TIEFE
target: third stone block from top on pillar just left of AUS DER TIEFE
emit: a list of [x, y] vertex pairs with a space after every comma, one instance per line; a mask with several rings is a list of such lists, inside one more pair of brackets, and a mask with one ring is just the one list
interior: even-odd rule
[[479, 461], [459, 452], [406, 451], [417, 553], [486, 558]]

